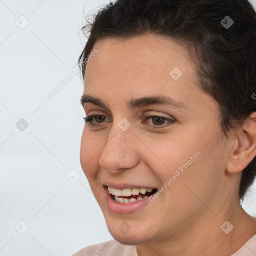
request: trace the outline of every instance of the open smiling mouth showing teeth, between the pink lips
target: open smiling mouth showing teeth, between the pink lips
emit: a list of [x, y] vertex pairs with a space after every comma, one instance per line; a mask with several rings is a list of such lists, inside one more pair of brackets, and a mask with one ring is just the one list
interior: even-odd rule
[[117, 189], [108, 186], [108, 192], [111, 198], [116, 202], [130, 203], [139, 200], [144, 200], [150, 195], [155, 194], [158, 190], [156, 188], [127, 188]]

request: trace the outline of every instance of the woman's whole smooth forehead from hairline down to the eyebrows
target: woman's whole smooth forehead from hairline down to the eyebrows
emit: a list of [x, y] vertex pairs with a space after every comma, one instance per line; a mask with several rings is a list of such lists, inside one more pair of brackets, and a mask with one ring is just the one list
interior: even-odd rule
[[183, 101], [188, 108], [203, 103], [198, 99], [205, 93], [196, 85], [188, 52], [169, 37], [106, 38], [96, 41], [94, 49], [98, 53], [87, 63], [84, 93], [116, 105], [156, 94]]

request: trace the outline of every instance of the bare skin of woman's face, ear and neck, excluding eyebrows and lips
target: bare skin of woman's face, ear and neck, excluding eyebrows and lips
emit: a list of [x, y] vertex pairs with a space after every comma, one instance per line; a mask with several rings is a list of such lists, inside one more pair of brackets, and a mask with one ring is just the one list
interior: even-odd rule
[[[256, 155], [256, 113], [226, 138], [218, 104], [197, 86], [188, 52], [170, 38], [146, 34], [98, 40], [99, 52], [86, 67], [84, 94], [103, 100], [108, 109], [85, 103], [86, 114], [106, 116], [86, 123], [80, 161], [111, 235], [137, 245], [138, 255], [231, 255], [256, 233], [256, 219], [240, 206], [241, 171]], [[169, 72], [182, 71], [178, 80]], [[186, 108], [154, 105], [130, 109], [131, 98], [165, 95]], [[175, 119], [160, 127], [153, 118]], [[118, 127], [126, 118], [127, 131]], [[158, 128], [154, 128], [158, 127]], [[196, 160], [139, 213], [114, 214], [106, 205], [102, 183], [141, 184], [160, 189], [197, 151]], [[118, 226], [126, 221], [130, 230]], [[220, 226], [228, 220], [227, 235]]]

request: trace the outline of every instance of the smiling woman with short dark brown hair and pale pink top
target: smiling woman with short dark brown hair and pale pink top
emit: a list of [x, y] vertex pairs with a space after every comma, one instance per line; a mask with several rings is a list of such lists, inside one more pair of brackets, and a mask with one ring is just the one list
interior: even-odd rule
[[80, 161], [114, 239], [74, 255], [256, 255], [251, 4], [117, 0], [87, 28]]

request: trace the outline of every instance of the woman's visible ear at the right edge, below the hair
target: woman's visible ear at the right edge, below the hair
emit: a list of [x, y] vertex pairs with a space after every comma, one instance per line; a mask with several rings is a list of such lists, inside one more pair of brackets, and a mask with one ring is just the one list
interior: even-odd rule
[[226, 166], [229, 173], [242, 171], [256, 156], [256, 112], [251, 113], [235, 132], [233, 145]]

